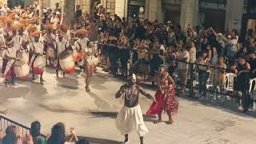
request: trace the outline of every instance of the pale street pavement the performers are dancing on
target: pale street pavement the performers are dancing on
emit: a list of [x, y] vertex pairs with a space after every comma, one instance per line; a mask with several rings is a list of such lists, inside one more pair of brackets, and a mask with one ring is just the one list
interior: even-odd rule
[[[54, 70], [47, 69], [44, 85], [18, 81], [18, 86], [0, 86], [0, 109], [9, 109], [7, 118], [30, 126], [38, 120], [42, 134], [50, 134], [51, 126], [64, 122], [66, 134], [74, 127], [77, 134], [91, 143], [118, 144], [123, 138], [115, 127], [115, 118], [121, 109], [120, 99], [114, 94], [124, 82], [95, 74], [91, 92], [84, 89], [83, 74], [56, 78]], [[155, 90], [148, 90], [154, 94]], [[174, 123], [153, 124], [154, 117], [145, 116], [150, 130], [146, 144], [254, 144], [256, 142], [255, 112], [242, 114], [235, 107], [216, 105], [182, 97]], [[150, 107], [150, 100], [141, 96], [143, 114]], [[166, 114], [163, 114], [167, 120]], [[138, 144], [136, 132], [130, 134], [130, 144]]]

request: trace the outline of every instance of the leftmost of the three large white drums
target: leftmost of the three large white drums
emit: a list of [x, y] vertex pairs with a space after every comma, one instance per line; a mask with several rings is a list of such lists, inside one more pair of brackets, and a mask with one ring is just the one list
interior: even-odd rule
[[23, 60], [16, 60], [14, 62], [14, 74], [18, 78], [25, 80], [30, 74], [30, 66]]

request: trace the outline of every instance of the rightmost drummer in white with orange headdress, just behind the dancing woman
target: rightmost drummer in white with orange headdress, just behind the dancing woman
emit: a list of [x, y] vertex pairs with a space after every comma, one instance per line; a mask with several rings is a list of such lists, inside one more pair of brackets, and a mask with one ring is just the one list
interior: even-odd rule
[[74, 46], [77, 49], [78, 53], [81, 54], [81, 58], [79, 58], [79, 60], [78, 60], [78, 66], [85, 73], [83, 54], [85, 54], [89, 39], [85, 38], [86, 30], [84, 30], [84, 29], [76, 30], [76, 35], [78, 36], [78, 40], [76, 42], [74, 42]]

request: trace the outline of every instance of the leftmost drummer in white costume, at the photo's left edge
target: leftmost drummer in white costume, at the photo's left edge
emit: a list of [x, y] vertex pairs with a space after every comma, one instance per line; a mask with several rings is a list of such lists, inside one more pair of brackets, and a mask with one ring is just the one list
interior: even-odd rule
[[17, 83], [14, 82], [15, 74], [13, 66], [14, 61], [17, 60], [17, 50], [14, 47], [12, 38], [6, 38], [6, 46], [7, 49], [3, 54], [4, 58], [2, 62], [2, 75], [6, 78], [6, 86], [9, 86], [9, 84], [17, 85]]

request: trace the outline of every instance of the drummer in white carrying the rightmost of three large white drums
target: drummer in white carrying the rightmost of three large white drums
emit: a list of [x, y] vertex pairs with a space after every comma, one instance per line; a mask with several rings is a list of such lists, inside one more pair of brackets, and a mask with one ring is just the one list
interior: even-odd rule
[[[58, 78], [58, 70], [61, 69], [59, 65], [59, 56], [60, 54], [62, 54], [62, 52], [67, 50], [67, 48], [70, 46], [70, 42], [66, 41], [63, 38], [65, 33], [62, 30], [57, 30], [57, 33], [58, 33], [58, 38], [56, 38], [56, 41], [54, 42], [54, 49], [57, 52], [56, 54], [57, 57], [55, 58], [55, 61], [56, 61], [55, 68], [56, 68], [56, 77]], [[65, 77], [64, 71], [63, 71], [63, 77]]]

